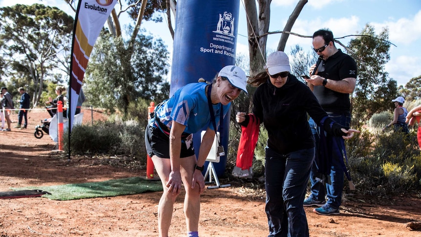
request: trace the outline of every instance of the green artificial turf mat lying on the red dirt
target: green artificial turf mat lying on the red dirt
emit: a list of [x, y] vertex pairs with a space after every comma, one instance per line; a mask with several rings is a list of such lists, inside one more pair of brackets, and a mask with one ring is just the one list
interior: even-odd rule
[[81, 198], [119, 196], [141, 194], [145, 192], [162, 191], [160, 181], [147, 180], [141, 177], [111, 179], [103, 182], [91, 182], [80, 184], [64, 184], [44, 187], [11, 188], [12, 190], [37, 189], [51, 194], [42, 197], [51, 200], [74, 200]]

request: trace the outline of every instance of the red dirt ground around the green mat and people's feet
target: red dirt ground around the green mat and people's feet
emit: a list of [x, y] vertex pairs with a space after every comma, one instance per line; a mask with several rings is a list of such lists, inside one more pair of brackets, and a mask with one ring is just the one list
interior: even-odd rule
[[[83, 110], [84, 123], [91, 122]], [[145, 176], [139, 167], [98, 162], [91, 156], [72, 157], [52, 151], [49, 136], [36, 139], [35, 126], [47, 112], [31, 111], [28, 129], [0, 132], [0, 192], [11, 187], [49, 186]], [[94, 120], [105, 119], [95, 111]], [[17, 116], [12, 117], [17, 120]], [[14, 127], [16, 123], [12, 124]], [[156, 175], [156, 174], [155, 174]], [[253, 183], [220, 179], [232, 187], [207, 189], [202, 195], [199, 234], [202, 237], [264, 237], [268, 234], [263, 191]], [[157, 205], [160, 192], [71, 201], [43, 197], [0, 199], [0, 237], [143, 237], [158, 236]], [[187, 236], [180, 194], [174, 207], [170, 236]], [[381, 199], [380, 199], [381, 200]], [[388, 204], [385, 204], [388, 203]], [[415, 237], [420, 231], [406, 227], [421, 221], [421, 197], [345, 197], [340, 215], [321, 216], [305, 208], [310, 236]]]

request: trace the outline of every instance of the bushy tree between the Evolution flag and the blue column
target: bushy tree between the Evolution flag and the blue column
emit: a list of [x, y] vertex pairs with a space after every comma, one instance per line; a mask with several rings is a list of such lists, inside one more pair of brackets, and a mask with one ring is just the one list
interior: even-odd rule
[[[130, 103], [140, 98], [161, 101], [168, 98], [168, 50], [161, 39], [138, 34], [132, 54], [121, 54], [126, 49], [121, 37], [102, 31], [85, 73], [84, 94], [89, 102], [111, 112], [127, 113]], [[121, 70], [130, 63], [130, 75]]]

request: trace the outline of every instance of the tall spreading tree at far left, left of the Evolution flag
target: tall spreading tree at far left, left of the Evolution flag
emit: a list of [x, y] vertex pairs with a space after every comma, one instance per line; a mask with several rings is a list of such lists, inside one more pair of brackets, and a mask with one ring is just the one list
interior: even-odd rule
[[28, 80], [36, 106], [44, 80], [57, 70], [68, 72], [59, 62], [71, 47], [73, 18], [42, 4], [2, 7], [0, 16], [1, 57], [6, 72]]

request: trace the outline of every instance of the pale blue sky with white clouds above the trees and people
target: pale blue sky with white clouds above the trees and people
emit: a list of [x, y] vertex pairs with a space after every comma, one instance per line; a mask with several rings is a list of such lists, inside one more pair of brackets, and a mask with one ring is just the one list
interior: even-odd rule
[[[74, 16], [74, 12], [64, 0], [0, 0], [0, 6], [35, 2], [57, 6]], [[297, 2], [298, 0], [272, 0], [270, 31], [284, 28]], [[291, 31], [311, 36], [320, 28], [329, 28], [337, 38], [358, 34], [367, 23], [373, 25], [377, 32], [383, 27], [388, 27], [389, 41], [397, 47], [390, 47], [390, 61], [385, 69], [398, 85], [405, 85], [411, 78], [421, 75], [421, 0], [309, 0]], [[142, 22], [142, 27], [154, 36], [162, 38], [172, 52], [172, 39], [166, 22]], [[237, 53], [248, 55], [247, 38], [244, 37], [246, 35], [245, 10], [243, 0], [240, 0]], [[268, 50], [276, 49], [279, 38], [280, 34], [268, 36]], [[340, 41], [346, 45], [351, 39], [348, 37]], [[304, 49], [312, 49], [311, 39], [291, 35], [286, 53], [289, 53], [295, 44], [300, 44]], [[341, 48], [340, 45], [337, 47]]]

